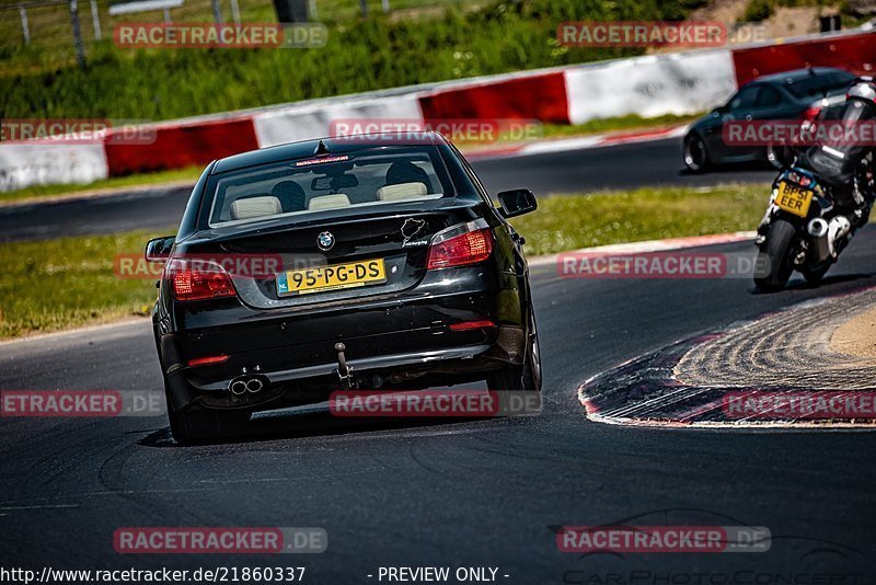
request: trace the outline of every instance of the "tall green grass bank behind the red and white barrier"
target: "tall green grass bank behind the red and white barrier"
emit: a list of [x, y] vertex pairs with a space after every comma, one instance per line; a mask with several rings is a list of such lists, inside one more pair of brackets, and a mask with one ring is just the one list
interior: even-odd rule
[[0, 54], [0, 117], [170, 119], [412, 83], [642, 54], [563, 47], [578, 20], [679, 20], [704, 0], [491, 0], [433, 19], [374, 14], [328, 23], [319, 49], [119, 49], [90, 44], [89, 66]]

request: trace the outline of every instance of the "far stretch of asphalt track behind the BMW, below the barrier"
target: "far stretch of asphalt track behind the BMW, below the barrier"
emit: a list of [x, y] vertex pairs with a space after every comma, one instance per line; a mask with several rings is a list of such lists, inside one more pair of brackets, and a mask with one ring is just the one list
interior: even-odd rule
[[[519, 158], [482, 159], [475, 160], [473, 165], [491, 193], [529, 187], [537, 195], [642, 185], [769, 182], [775, 175], [769, 168], [758, 167], [685, 174], [680, 138]], [[110, 197], [0, 206], [0, 242], [54, 238], [60, 233], [80, 236], [132, 229], [166, 230], [178, 225], [189, 193], [191, 188], [185, 187], [155, 188]]]

